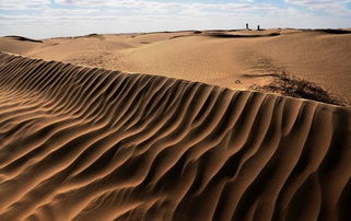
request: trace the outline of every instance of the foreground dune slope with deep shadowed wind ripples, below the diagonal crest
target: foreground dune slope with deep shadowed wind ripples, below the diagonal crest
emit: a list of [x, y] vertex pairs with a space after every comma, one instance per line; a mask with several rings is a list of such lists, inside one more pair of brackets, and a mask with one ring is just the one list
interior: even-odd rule
[[0, 54], [0, 220], [350, 220], [351, 113]]

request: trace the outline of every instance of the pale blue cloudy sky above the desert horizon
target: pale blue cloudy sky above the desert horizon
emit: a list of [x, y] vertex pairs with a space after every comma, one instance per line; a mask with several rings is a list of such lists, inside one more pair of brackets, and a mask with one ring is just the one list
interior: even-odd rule
[[0, 36], [351, 27], [351, 0], [0, 0]]

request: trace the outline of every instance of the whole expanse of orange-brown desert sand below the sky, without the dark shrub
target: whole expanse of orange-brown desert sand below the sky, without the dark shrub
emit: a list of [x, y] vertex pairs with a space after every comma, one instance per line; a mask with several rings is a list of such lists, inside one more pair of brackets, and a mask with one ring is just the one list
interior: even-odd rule
[[1, 38], [0, 220], [350, 220], [350, 108], [239, 90], [284, 70], [350, 98], [350, 38]]

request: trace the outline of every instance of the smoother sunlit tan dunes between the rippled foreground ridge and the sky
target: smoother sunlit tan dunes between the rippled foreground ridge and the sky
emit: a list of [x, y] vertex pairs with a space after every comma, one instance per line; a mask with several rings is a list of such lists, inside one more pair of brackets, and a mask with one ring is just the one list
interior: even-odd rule
[[150, 73], [230, 89], [286, 72], [351, 103], [351, 31], [203, 31], [0, 38], [0, 50], [45, 60]]

